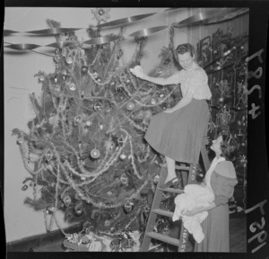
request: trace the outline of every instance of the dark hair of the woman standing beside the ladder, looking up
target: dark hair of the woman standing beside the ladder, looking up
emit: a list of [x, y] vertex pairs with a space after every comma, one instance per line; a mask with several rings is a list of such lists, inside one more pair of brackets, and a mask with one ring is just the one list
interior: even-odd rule
[[236, 138], [233, 138], [229, 135], [221, 136], [223, 140], [221, 142], [221, 156], [223, 156], [226, 160], [234, 161], [239, 146]]

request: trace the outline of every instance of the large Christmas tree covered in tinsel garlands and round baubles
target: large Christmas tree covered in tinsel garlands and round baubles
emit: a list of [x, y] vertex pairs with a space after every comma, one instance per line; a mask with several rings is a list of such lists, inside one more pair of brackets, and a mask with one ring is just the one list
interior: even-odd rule
[[[100, 39], [99, 25], [108, 10], [94, 12], [97, 26], [90, 26], [88, 34]], [[59, 22], [47, 22], [60, 28]], [[173, 28], [170, 35], [152, 76], [169, 76], [177, 69]], [[13, 129], [30, 173], [22, 190], [33, 189], [34, 198], [25, 203], [44, 210], [48, 230], [56, 210], [64, 211], [66, 221], [99, 232], [130, 226], [143, 230], [151, 208], [163, 157], [143, 136], [152, 114], [178, 103], [180, 90], [178, 85], [153, 85], [130, 72], [143, 58], [146, 38], [134, 39], [137, 48], [125, 66], [120, 62], [122, 31], [103, 39], [106, 43], [87, 46], [74, 32], [56, 35], [55, 70], [35, 75], [42, 92], [40, 98], [30, 94], [36, 116], [28, 123], [29, 132]]]

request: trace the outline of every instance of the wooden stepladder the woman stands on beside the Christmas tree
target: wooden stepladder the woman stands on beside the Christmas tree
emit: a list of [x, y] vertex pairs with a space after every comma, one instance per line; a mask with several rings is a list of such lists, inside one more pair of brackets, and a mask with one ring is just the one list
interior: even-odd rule
[[[209, 159], [207, 156], [207, 151], [206, 151], [204, 143], [203, 143], [203, 146], [201, 148], [201, 155], [202, 155], [202, 159], [203, 159], [203, 163], [204, 163], [204, 169], [206, 172], [209, 168], [210, 163], [209, 163]], [[187, 184], [196, 183], [196, 172], [197, 172], [197, 165], [196, 164], [190, 164], [189, 166], [176, 165], [176, 170], [188, 171]], [[147, 227], [146, 227], [145, 232], [144, 232], [143, 242], [140, 246], [140, 252], [148, 252], [149, 251], [152, 239], [160, 240], [164, 243], [167, 243], [167, 244], [170, 244], [173, 246], [178, 246], [178, 252], [186, 252], [189, 233], [188, 233], [187, 229], [183, 227], [183, 224], [181, 224], [182, 227], [180, 228], [179, 239], [174, 238], [174, 237], [164, 236], [164, 235], [161, 235], [160, 233], [156, 233], [153, 231], [157, 215], [172, 218], [173, 214], [174, 214], [171, 211], [161, 210], [159, 208], [160, 204], [161, 204], [162, 193], [163, 192], [174, 192], [174, 193], [178, 193], [178, 194], [183, 193], [183, 191], [180, 189], [174, 189], [174, 188], [161, 189], [160, 188], [160, 186], [164, 183], [164, 181], [166, 179], [166, 175], [167, 175], [167, 167], [162, 167], [160, 178], [159, 178], [159, 183], [157, 184], [155, 195], [154, 195], [154, 198], [152, 201], [152, 209], [151, 209], [149, 219], [147, 222]]]

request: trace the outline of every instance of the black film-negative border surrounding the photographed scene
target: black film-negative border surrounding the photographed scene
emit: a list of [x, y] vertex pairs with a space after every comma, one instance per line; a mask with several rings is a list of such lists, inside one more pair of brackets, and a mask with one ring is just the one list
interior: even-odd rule
[[[262, 54], [264, 60], [263, 63], [259, 63], [258, 58], [254, 58], [249, 62], [248, 71], [256, 71], [256, 68], [263, 68], [263, 76], [259, 79], [252, 77], [248, 80], [248, 89], [251, 89], [253, 85], [260, 85], [262, 88], [262, 99], [258, 98], [257, 91], [254, 91], [252, 94], [248, 95], [248, 111], [251, 110], [251, 104], [255, 103], [256, 106], [259, 105], [261, 114], [255, 119], [252, 119], [252, 116], [248, 114], [247, 117], [247, 209], [252, 208], [261, 201], [265, 201], [269, 196], [269, 174], [268, 174], [268, 165], [267, 165], [267, 156], [266, 156], [266, 142], [265, 142], [265, 118], [268, 119], [268, 115], [265, 114], [266, 107], [266, 93], [265, 86], [269, 84], [269, 61], [266, 58], [266, 49], [268, 49], [269, 44], [266, 42], [268, 30], [268, 17], [269, 17], [269, 2], [268, 1], [123, 1], [123, 0], [110, 0], [110, 1], [70, 1], [70, 0], [54, 0], [54, 1], [18, 1], [10, 0], [4, 1], [4, 6], [46, 6], [46, 7], [249, 7], [249, 56], [256, 53], [260, 49], [265, 49]], [[4, 24], [4, 9], [3, 9], [3, 24]], [[3, 42], [3, 40], [2, 40]], [[1, 48], [1, 82], [4, 85], [4, 53], [3, 48]], [[4, 89], [4, 87], [2, 87]], [[3, 90], [4, 91], [4, 90]], [[268, 94], [267, 94], [268, 95]], [[3, 93], [4, 96], [4, 93]], [[3, 102], [3, 111], [4, 111], [4, 102]], [[2, 126], [1, 129], [4, 129], [4, 116], [1, 120]], [[4, 130], [3, 130], [4, 131]], [[4, 132], [1, 134], [1, 165], [2, 165], [2, 174], [0, 174], [1, 179], [1, 195], [2, 201], [4, 201]], [[267, 198], [268, 199], [268, 198]], [[2, 207], [3, 208], [3, 207]], [[269, 201], [265, 203], [264, 206], [266, 220], [266, 214], [269, 214]], [[3, 215], [1, 213], [1, 215]], [[249, 230], [250, 225], [253, 222], [261, 224], [261, 212], [259, 209], [256, 209], [252, 212], [247, 213], [247, 240], [256, 235], [256, 233], [261, 232], [257, 228], [255, 233], [251, 233]], [[268, 217], [267, 217], [268, 218]], [[1, 220], [2, 221], [2, 220]], [[2, 221], [4, 222], [4, 220]], [[221, 224], [221, 222], [220, 222]], [[4, 224], [2, 224], [4, 227]], [[269, 222], [265, 222], [265, 227], [263, 228], [267, 233], [269, 232]], [[4, 229], [1, 231], [4, 237]], [[3, 239], [2, 239], [3, 240]], [[266, 238], [265, 242], [267, 243], [261, 249], [259, 249], [255, 254], [251, 253], [251, 250], [255, 249], [260, 245], [257, 238], [252, 242], [247, 244], [247, 253], [246, 254], [180, 254], [180, 258], [269, 258], [269, 237]], [[4, 249], [2, 249], [4, 251]], [[173, 253], [155, 253], [155, 254], [144, 254], [144, 253], [119, 253], [119, 254], [106, 254], [106, 253], [80, 253], [75, 254], [75, 256], [85, 257], [85, 258], [100, 258], [102, 256], [116, 256], [117, 258], [135, 258], [137, 256], [152, 256], [155, 258], [177, 258], [178, 254]], [[72, 253], [7, 253], [7, 258], [36, 258], [41, 256], [42, 258], [68, 258], [74, 256]]]

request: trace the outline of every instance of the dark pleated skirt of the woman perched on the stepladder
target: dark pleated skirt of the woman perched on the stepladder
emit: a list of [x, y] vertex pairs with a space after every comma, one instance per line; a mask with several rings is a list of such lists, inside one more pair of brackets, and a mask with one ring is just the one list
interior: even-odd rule
[[198, 163], [209, 116], [206, 101], [193, 98], [176, 112], [153, 115], [144, 138], [164, 156], [178, 162]]

